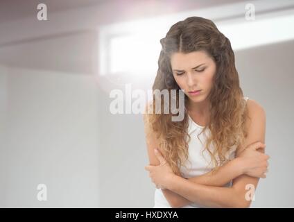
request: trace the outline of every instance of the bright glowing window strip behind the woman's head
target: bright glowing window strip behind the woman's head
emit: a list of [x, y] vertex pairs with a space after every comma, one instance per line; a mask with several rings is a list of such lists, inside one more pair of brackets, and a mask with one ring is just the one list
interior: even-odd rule
[[[159, 40], [172, 24], [191, 16], [214, 21], [230, 39], [234, 50], [294, 39], [291, 28], [294, 27], [294, 10], [279, 10], [286, 6], [293, 8], [293, 1], [257, 1], [254, 3], [256, 18], [249, 21], [245, 19], [245, 3], [99, 27], [99, 74], [155, 74], [161, 50]], [[227, 19], [230, 17], [234, 19]]]

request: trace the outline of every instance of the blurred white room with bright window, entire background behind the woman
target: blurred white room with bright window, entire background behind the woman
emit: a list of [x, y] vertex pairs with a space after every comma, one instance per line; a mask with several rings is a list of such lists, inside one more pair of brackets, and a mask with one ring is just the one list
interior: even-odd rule
[[191, 16], [230, 39], [244, 96], [266, 111], [270, 170], [250, 207], [294, 207], [293, 1], [40, 3], [0, 2], [0, 207], [153, 207], [143, 117], [126, 110], [137, 89], [148, 101], [159, 40]]

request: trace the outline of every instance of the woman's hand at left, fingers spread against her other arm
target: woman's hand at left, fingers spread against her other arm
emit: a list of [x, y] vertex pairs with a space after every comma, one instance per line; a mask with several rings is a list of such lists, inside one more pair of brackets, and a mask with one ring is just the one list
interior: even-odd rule
[[169, 166], [168, 162], [166, 162], [162, 154], [156, 148], [155, 155], [160, 164], [157, 166], [148, 165], [145, 169], [149, 171], [149, 177], [152, 182], [155, 183], [156, 187], [164, 189], [168, 186], [168, 182], [171, 181], [171, 178], [175, 176], [175, 173], [173, 173], [171, 166]]

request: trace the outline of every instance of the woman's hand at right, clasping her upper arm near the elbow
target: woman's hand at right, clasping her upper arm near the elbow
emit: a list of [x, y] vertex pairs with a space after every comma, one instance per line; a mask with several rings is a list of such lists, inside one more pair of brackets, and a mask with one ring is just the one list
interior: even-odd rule
[[[256, 142], [247, 146], [238, 156], [243, 162], [243, 173], [256, 178], [266, 178], [269, 155], [264, 153], [265, 144]], [[262, 149], [263, 153], [257, 151]]]

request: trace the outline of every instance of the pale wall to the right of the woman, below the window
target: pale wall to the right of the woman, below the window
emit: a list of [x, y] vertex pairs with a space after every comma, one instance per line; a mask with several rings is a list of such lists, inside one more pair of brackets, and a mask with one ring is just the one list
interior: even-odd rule
[[259, 180], [252, 207], [294, 207], [294, 41], [239, 51], [236, 65], [246, 96], [266, 110], [266, 179]]

